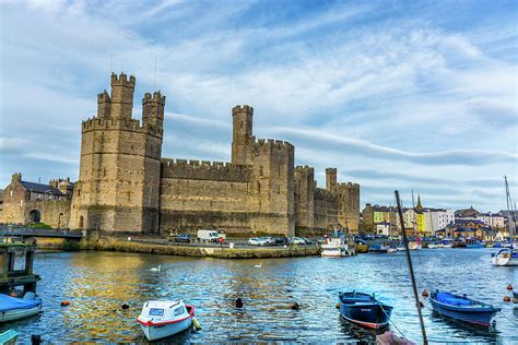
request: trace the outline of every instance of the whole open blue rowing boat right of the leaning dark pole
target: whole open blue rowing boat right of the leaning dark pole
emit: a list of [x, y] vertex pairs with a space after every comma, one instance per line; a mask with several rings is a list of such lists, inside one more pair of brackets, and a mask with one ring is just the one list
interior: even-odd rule
[[444, 317], [482, 326], [490, 326], [495, 314], [502, 310], [468, 298], [466, 295], [459, 296], [439, 290], [431, 294], [429, 301], [434, 311]]

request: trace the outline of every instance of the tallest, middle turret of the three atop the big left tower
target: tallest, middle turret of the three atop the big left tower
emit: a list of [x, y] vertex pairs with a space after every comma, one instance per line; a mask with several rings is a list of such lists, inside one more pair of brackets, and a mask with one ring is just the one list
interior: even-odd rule
[[136, 79], [122, 72], [120, 75], [111, 73], [111, 117], [131, 119], [133, 110], [133, 92]]

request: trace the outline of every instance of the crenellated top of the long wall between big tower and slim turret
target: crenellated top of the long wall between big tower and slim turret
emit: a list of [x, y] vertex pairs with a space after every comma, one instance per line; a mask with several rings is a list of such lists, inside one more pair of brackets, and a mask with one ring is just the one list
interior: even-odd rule
[[162, 178], [248, 182], [251, 167], [223, 162], [162, 158]]

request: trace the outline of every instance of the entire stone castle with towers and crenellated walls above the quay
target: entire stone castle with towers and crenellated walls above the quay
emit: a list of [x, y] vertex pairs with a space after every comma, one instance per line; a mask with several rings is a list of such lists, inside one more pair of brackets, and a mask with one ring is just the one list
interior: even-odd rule
[[[254, 136], [254, 108], [232, 109], [232, 162], [163, 158], [165, 96], [146, 93], [140, 121], [132, 118], [134, 86], [134, 76], [113, 74], [111, 94], [101, 93], [97, 115], [82, 122], [79, 181], [63, 198], [71, 229], [224, 228], [286, 236], [358, 229], [360, 186], [338, 183], [337, 169], [328, 168], [326, 188], [318, 188], [313, 167], [294, 165], [292, 144]], [[10, 190], [20, 182], [21, 176], [5, 188], [1, 222], [26, 223], [34, 211], [28, 209], [37, 207], [10, 216], [8, 205], [17, 202], [8, 201]]]

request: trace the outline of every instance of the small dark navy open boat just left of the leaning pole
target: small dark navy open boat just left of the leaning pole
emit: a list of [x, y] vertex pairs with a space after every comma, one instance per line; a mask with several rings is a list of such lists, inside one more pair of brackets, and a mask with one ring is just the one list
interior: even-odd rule
[[386, 328], [393, 307], [378, 301], [375, 295], [364, 293], [339, 293], [340, 314], [346, 321], [369, 329]]

